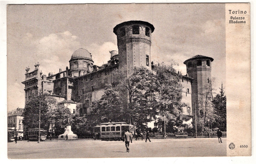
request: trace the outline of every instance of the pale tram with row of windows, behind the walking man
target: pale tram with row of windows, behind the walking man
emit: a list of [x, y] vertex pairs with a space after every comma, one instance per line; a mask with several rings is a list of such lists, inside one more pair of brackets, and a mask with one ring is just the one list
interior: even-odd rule
[[129, 130], [131, 135], [134, 134], [134, 126], [125, 122], [101, 123], [98, 126], [94, 126], [94, 132], [97, 135], [99, 134], [99, 139], [105, 141], [121, 141], [126, 129]]

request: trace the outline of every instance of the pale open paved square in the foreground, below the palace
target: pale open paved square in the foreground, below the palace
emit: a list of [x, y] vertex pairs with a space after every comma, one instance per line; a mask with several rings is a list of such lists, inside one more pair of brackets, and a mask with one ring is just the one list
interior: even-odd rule
[[134, 141], [126, 152], [122, 141], [9, 142], [8, 158], [108, 158], [108, 157], [204, 157], [226, 156], [226, 138], [152, 139]]

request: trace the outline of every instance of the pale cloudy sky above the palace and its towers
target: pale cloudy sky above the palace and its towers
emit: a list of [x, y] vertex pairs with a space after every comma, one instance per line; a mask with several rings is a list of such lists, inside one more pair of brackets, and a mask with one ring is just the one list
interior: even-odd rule
[[226, 86], [225, 4], [47, 4], [7, 6], [7, 109], [24, 108], [25, 69], [40, 63], [43, 74], [69, 67], [79, 48], [95, 65], [117, 49], [115, 25], [142, 20], [154, 25], [151, 56], [178, 63], [196, 55], [212, 57], [213, 91]]

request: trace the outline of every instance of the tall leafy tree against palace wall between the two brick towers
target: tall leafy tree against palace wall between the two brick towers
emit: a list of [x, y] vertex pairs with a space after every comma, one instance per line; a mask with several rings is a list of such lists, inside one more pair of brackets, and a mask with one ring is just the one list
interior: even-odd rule
[[[164, 115], [166, 116], [166, 132], [176, 132], [177, 127], [181, 126], [183, 120], [188, 121], [190, 117], [182, 115], [181, 102], [182, 86], [180, 85], [181, 74], [177, 73], [174, 65], [159, 64], [154, 66], [156, 72], [156, 85], [158, 92], [157, 108], [160, 117], [158, 126], [164, 131]], [[156, 117], [156, 116], [155, 116]]]

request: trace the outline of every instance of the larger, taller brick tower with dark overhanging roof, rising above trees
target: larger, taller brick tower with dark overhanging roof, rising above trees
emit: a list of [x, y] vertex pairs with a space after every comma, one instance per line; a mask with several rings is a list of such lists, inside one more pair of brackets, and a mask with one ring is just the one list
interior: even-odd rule
[[149, 22], [132, 20], [115, 26], [119, 66], [151, 68], [151, 33], [154, 26]]

